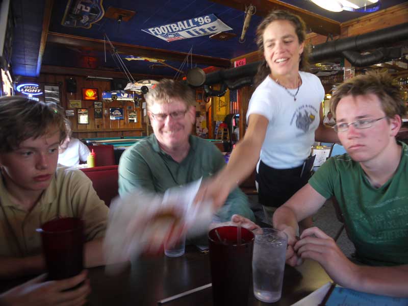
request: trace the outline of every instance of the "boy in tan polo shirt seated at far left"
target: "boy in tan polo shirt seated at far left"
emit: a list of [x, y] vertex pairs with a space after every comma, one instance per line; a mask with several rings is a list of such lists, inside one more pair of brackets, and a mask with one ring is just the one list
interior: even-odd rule
[[44, 271], [36, 228], [57, 217], [84, 219], [85, 266], [104, 264], [108, 207], [82, 171], [57, 169], [65, 120], [55, 104], [0, 98], [0, 277]]

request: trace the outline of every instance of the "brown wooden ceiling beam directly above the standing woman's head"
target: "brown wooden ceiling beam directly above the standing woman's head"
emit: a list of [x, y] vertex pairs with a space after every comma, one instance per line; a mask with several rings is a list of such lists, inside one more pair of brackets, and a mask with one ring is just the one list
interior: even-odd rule
[[[245, 12], [245, 6], [252, 4], [257, 8], [256, 15], [265, 17], [272, 10], [286, 10], [300, 16], [312, 32], [327, 36], [340, 35], [340, 22], [311, 13], [278, 0], [210, 0]], [[327, 0], [329, 1], [329, 0]]]

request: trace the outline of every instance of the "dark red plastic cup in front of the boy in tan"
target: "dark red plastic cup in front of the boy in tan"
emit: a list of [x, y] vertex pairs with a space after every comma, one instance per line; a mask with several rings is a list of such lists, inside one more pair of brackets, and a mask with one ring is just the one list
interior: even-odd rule
[[59, 218], [42, 224], [42, 249], [49, 280], [69, 278], [84, 269], [84, 222]]

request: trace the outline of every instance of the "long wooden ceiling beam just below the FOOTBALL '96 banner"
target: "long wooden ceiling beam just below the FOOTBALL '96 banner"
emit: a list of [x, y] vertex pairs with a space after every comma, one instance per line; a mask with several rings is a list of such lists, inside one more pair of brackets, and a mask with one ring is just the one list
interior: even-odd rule
[[[67, 34], [61, 34], [61, 33], [55, 33], [55, 32], [48, 33], [48, 43], [57, 43], [57, 44], [62, 44], [62, 45], [70, 46], [70, 47], [90, 48], [94, 50], [104, 50], [105, 49], [104, 40], [86, 38], [86, 37], [74, 36], [74, 35], [67, 35]], [[144, 47], [144, 46], [132, 45], [132, 44], [122, 43], [122, 42], [112, 41], [112, 44], [117, 48], [118, 53], [126, 54], [126, 55], [142, 56], [142, 57], [148, 57], [148, 58], [156, 58], [156, 59], [179, 61], [179, 62], [183, 62], [184, 59], [188, 55], [187, 53], [184, 53], [184, 52], [176, 52], [176, 51], [169, 51], [165, 49]], [[107, 45], [107, 47], [109, 47], [109, 45]], [[229, 59], [214, 58], [210, 56], [203, 56], [203, 55], [196, 55], [196, 54], [192, 55], [192, 60], [194, 63], [208, 65], [208, 66], [229, 68], [231, 65], [231, 62]]]

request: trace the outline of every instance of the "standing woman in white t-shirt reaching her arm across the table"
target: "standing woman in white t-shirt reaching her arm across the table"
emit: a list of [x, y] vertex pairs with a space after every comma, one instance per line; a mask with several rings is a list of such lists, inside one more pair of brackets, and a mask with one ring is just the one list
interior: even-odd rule
[[[302, 168], [315, 138], [338, 141], [321, 120], [320, 80], [299, 71], [305, 66], [304, 39], [304, 22], [286, 11], [272, 11], [258, 26], [257, 44], [264, 59], [246, 114], [248, 129], [227, 166], [203, 185], [197, 200], [213, 198], [221, 205], [258, 163], [259, 200], [271, 222], [274, 208], [308, 182], [310, 171], [302, 173]], [[302, 222], [302, 228], [312, 225], [311, 219]]]

